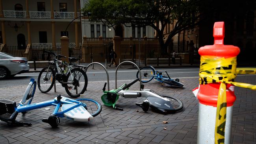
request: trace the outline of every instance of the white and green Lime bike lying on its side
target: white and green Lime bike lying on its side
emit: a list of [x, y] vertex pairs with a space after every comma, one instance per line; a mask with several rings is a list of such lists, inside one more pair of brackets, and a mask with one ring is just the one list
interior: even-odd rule
[[162, 114], [176, 113], [182, 110], [183, 103], [178, 98], [175, 98], [173, 96], [158, 94], [153, 90], [144, 89], [144, 85], [142, 85], [141, 91], [128, 90], [129, 87], [137, 81], [139, 81], [139, 78], [135, 79], [131, 83], [128, 83], [127, 85], [124, 84], [118, 89], [113, 89], [110, 91], [105, 91], [106, 84], [107, 84], [105, 83], [102, 89], [104, 92], [104, 94], [101, 96], [102, 102], [104, 103], [104, 105], [112, 106], [114, 109], [122, 111], [123, 110], [122, 108], [116, 106], [116, 102], [119, 96], [122, 96], [124, 98], [144, 97], [146, 99], [142, 103], [135, 103], [135, 104], [141, 107], [145, 112], [148, 111], [149, 107], [151, 107], [151, 109]]

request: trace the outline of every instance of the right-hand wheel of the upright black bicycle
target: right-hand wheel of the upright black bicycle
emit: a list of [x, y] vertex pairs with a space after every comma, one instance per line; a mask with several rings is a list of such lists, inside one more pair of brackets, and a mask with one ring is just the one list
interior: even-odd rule
[[85, 92], [88, 79], [85, 72], [81, 68], [74, 68], [67, 74], [67, 87], [65, 90], [72, 98], [77, 98]]

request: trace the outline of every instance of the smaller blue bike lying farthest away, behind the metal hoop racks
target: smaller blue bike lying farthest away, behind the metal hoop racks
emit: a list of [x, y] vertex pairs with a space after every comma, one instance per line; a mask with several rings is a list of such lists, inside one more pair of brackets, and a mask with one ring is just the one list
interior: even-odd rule
[[[165, 70], [168, 77], [163, 76], [162, 72], [158, 72], [158, 70], [155, 70], [153, 66], [143, 66], [140, 68], [141, 70], [141, 82], [147, 83], [151, 81], [153, 78], [160, 81], [161, 85], [167, 84], [171, 87], [180, 87], [184, 88], [184, 84], [180, 83], [180, 79], [172, 79], [170, 78], [169, 74]], [[137, 72], [137, 78], [139, 78], [139, 71]]]

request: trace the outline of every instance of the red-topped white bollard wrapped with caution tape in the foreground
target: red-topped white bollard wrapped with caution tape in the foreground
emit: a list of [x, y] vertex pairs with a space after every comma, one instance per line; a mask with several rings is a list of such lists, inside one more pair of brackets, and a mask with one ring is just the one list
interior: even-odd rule
[[[224, 22], [215, 22], [213, 27], [214, 44], [203, 46], [198, 50], [202, 56], [213, 56], [216, 59], [224, 57], [236, 57], [240, 50], [236, 46], [224, 45]], [[202, 63], [200, 65], [200, 68]], [[233, 66], [236, 68], [236, 65]], [[200, 83], [197, 98], [199, 100], [198, 114], [198, 144], [214, 144], [215, 143], [215, 120], [217, 111], [217, 99], [219, 94], [219, 82]], [[224, 143], [229, 144], [232, 131], [232, 115], [233, 103], [236, 100], [234, 94], [234, 85], [226, 84], [226, 124], [224, 124]]]

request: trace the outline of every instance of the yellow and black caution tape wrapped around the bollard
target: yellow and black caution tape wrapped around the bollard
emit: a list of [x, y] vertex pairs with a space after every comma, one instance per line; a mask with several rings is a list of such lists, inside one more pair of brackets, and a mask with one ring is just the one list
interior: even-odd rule
[[256, 68], [236, 68], [236, 57], [201, 56], [199, 82], [201, 85], [221, 82], [217, 100], [215, 144], [224, 143], [226, 124], [226, 83], [256, 90], [256, 85], [234, 82], [237, 74], [256, 74]]

